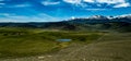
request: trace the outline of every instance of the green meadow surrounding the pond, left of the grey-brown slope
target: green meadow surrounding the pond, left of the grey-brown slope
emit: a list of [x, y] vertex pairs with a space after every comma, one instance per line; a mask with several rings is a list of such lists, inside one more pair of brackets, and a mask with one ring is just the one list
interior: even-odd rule
[[[1, 28], [0, 58], [20, 58], [53, 53], [69, 47], [72, 42], [87, 45], [104, 33], [44, 30], [33, 28]], [[71, 41], [57, 41], [71, 39]]]

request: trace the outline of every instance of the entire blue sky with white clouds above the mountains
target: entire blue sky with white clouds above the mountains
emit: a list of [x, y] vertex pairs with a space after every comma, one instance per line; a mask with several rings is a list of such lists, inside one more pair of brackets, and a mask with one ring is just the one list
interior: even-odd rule
[[58, 22], [131, 14], [131, 0], [0, 0], [0, 22]]

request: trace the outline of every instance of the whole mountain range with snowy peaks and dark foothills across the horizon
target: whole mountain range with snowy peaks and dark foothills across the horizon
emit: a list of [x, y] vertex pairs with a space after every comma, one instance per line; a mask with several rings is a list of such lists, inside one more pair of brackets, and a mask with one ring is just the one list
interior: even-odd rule
[[131, 30], [131, 14], [119, 16], [94, 15], [91, 17], [76, 17], [61, 22], [29, 22], [29, 23], [0, 23], [0, 27], [31, 27], [45, 29], [67, 30]]

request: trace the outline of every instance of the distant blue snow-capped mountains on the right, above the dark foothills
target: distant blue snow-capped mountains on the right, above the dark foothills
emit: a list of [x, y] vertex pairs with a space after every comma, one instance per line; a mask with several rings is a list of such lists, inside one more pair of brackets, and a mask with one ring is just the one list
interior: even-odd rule
[[127, 22], [131, 23], [131, 14], [119, 15], [119, 16], [103, 16], [103, 15], [93, 15], [91, 17], [80, 17], [71, 19], [67, 22], [71, 23], [110, 23], [110, 22]]

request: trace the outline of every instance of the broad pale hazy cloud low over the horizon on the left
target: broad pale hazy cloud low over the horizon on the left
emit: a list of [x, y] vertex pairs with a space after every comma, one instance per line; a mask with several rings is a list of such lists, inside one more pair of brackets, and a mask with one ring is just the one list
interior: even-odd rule
[[16, 14], [9, 14], [2, 13], [0, 14], [4, 17], [0, 17], [0, 22], [56, 22], [59, 19], [50, 16], [46, 13], [40, 13], [37, 15], [26, 16], [26, 15], [16, 15]]

